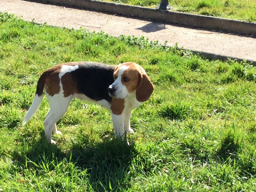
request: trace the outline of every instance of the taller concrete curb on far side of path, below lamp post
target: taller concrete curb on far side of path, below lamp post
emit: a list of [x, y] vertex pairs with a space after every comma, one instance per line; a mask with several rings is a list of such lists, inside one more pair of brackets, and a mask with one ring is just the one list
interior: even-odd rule
[[139, 17], [160, 22], [181, 24], [205, 29], [223, 30], [230, 33], [256, 35], [256, 23], [238, 20], [223, 19], [218, 17], [196, 15], [175, 11], [157, 10], [153, 8], [109, 3], [94, 0], [32, 0], [34, 2], [49, 2], [71, 6], [86, 10], [118, 13], [124, 16]]

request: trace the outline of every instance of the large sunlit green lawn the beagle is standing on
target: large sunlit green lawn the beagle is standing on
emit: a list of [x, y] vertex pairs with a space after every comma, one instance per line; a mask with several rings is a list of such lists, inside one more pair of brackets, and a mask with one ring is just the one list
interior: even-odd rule
[[[256, 68], [204, 60], [144, 37], [36, 25], [0, 13], [1, 191], [253, 191], [256, 183]], [[132, 113], [130, 146], [111, 115], [73, 100], [44, 139], [44, 98], [21, 122], [41, 73], [58, 63], [133, 61], [155, 91]]]

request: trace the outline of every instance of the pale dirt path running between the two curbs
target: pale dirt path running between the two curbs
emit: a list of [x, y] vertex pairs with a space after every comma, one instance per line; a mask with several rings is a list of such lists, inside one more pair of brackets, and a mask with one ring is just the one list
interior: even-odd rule
[[203, 51], [233, 58], [256, 61], [256, 38], [222, 34], [202, 29], [190, 29], [169, 24], [158, 24], [145, 20], [119, 17], [54, 5], [39, 4], [21, 0], [1, 0], [0, 12], [14, 13], [24, 20], [34, 19], [37, 23], [87, 28], [90, 31], [104, 31], [111, 36], [120, 34], [145, 36], [160, 43], [168, 41], [173, 46], [194, 51]]

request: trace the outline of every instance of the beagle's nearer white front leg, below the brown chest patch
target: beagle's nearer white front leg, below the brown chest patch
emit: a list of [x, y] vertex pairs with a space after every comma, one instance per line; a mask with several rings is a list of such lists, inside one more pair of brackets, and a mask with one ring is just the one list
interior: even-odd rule
[[116, 137], [124, 140], [124, 114], [115, 115], [111, 112], [111, 116]]

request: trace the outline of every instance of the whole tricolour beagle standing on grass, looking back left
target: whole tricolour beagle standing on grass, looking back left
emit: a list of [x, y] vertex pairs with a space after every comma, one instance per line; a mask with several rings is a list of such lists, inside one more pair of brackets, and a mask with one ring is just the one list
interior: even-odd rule
[[49, 103], [44, 120], [46, 139], [52, 144], [56, 122], [65, 114], [73, 98], [97, 103], [110, 109], [116, 137], [123, 139], [130, 127], [132, 109], [149, 99], [154, 86], [145, 70], [136, 63], [105, 65], [97, 62], [78, 61], [56, 65], [40, 76], [36, 94], [24, 118], [23, 125], [34, 116], [43, 100], [43, 91]]

